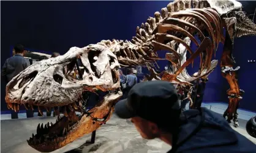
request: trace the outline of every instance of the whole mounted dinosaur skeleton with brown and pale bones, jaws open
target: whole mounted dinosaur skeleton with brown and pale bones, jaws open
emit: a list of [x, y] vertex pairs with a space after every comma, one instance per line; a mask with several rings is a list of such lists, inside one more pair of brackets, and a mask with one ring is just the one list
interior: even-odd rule
[[[48, 123], [37, 127], [37, 134], [32, 134], [28, 144], [40, 152], [51, 152], [71, 143], [86, 133], [90, 133], [106, 123], [114, 111], [115, 104], [122, 96], [119, 90], [120, 66], [149, 66], [154, 68], [156, 60], [168, 60], [176, 67], [173, 71], [162, 72], [162, 80], [175, 84], [190, 85], [189, 82], [207, 77], [216, 67], [217, 60], [212, 60], [219, 43], [224, 43], [224, 52], [220, 66], [222, 76], [230, 84], [227, 94], [230, 102], [227, 112], [230, 121], [233, 116], [237, 121], [236, 109], [241, 99], [233, 68], [233, 40], [235, 37], [256, 35], [255, 24], [248, 20], [239, 2], [229, 1], [188, 1], [170, 2], [154, 18], [137, 27], [136, 36], [130, 41], [102, 40], [85, 48], [70, 48], [56, 58], [42, 60], [29, 66], [6, 87], [6, 102], [9, 109], [16, 112], [23, 104], [26, 109], [36, 105], [42, 107], [62, 107], [64, 117], [55, 124]], [[226, 29], [223, 37], [223, 27]], [[198, 39], [195, 39], [195, 35]], [[189, 41], [195, 43], [195, 52]], [[190, 58], [185, 61], [184, 53], [176, 51], [170, 44], [186, 48]], [[182, 44], [183, 46], [180, 46]], [[165, 59], [160, 59], [157, 51], [170, 51]], [[193, 64], [200, 56], [200, 69], [196, 76], [189, 76], [186, 66]], [[73, 61], [81, 59], [84, 73], [80, 80], [70, 78], [65, 67], [75, 66]], [[230, 72], [232, 75], [230, 75]], [[81, 109], [81, 94], [96, 90], [110, 91], [93, 109], [83, 112], [79, 117], [75, 111]]]

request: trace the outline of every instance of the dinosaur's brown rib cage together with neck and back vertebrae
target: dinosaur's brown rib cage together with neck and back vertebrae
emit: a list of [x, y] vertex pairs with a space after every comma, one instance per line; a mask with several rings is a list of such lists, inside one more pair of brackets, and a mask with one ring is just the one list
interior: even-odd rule
[[[113, 51], [118, 57], [121, 66], [149, 65], [152, 67], [156, 60], [169, 60], [172, 62], [171, 60], [175, 58], [179, 59], [178, 53], [168, 46], [170, 41], [174, 40], [178, 45], [183, 44], [190, 55], [193, 56], [185, 65], [189, 65], [195, 57], [200, 55], [200, 70], [197, 77], [190, 77], [187, 72], [184, 72], [186, 68], [181, 68], [183, 63], [180, 62], [180, 59], [176, 63], [179, 69], [174, 75], [179, 77], [178, 80], [175, 80], [176, 77], [172, 77], [172, 80], [178, 83], [188, 83], [191, 80], [209, 74], [213, 71], [217, 62], [211, 63], [211, 57], [213, 50], [215, 51], [217, 48], [216, 44], [221, 40], [222, 21], [216, 10], [205, 9], [206, 7], [209, 7], [207, 1], [170, 2], [167, 7], [161, 9], [161, 12], [154, 13], [154, 18], [149, 17], [146, 23], [142, 23], [140, 27], [137, 27], [136, 37], [132, 37], [132, 40], [102, 40], [98, 44], [104, 45]], [[186, 44], [184, 38], [189, 37], [199, 47], [200, 42], [195, 39], [194, 34], [198, 35], [200, 41], [203, 41], [206, 38], [205, 31], [213, 39], [212, 41], [209, 40], [211, 43], [209, 45], [210, 48], [206, 49], [207, 51], [202, 50], [194, 53], [189, 45]], [[174, 55], [175, 58], [160, 59], [157, 55], [159, 50], [170, 51], [170, 54]], [[204, 52], [205, 58], [202, 57], [201, 52]]]

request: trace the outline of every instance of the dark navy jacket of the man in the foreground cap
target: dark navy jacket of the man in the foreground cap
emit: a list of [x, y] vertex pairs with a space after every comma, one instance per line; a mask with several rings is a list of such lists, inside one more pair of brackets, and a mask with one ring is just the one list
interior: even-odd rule
[[177, 146], [169, 153], [256, 152], [256, 144], [233, 130], [218, 113], [206, 108], [183, 113], [188, 122], [180, 127]]

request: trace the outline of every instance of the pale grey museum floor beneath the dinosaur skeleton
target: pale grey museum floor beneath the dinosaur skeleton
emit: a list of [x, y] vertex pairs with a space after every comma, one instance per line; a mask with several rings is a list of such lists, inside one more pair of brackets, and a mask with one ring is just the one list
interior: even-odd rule
[[[208, 103], [203, 106], [209, 109], [211, 108], [211, 110], [218, 113], [223, 113], [223, 109], [227, 108], [224, 107], [225, 104], [222, 103]], [[221, 110], [223, 110], [223, 112]], [[244, 128], [247, 120], [254, 115], [256, 115], [256, 113], [239, 110], [240, 127], [234, 129], [256, 144], [256, 139], [250, 137]], [[22, 114], [19, 114], [20, 118], [22, 116]], [[37, 152], [28, 146], [26, 139], [31, 137], [32, 132], [36, 132], [38, 123], [47, 123], [48, 121], [53, 122], [55, 119], [56, 118], [53, 117], [8, 119], [7, 115], [1, 115], [1, 152]], [[90, 138], [91, 134], [85, 135], [55, 152], [154, 153], [167, 152], [170, 149], [170, 146], [160, 140], [143, 140], [130, 121], [119, 119], [115, 115], [113, 115], [107, 124], [97, 130], [96, 142], [94, 144], [85, 144], [85, 141]]]

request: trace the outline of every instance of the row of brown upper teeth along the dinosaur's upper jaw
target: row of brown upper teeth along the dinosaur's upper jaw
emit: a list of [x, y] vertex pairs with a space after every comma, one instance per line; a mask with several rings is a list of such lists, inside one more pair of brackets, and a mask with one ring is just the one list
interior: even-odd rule
[[[75, 110], [78, 110], [78, 108], [81, 109], [81, 107], [82, 107], [81, 101], [78, 102], [78, 105], [79, 105], [79, 107], [77, 106], [77, 104], [75, 102], [73, 102], [72, 104], [67, 105], [67, 107], [68, 107], [68, 109], [70, 111], [73, 111], [74, 109]], [[7, 107], [8, 107], [8, 109], [12, 109], [15, 112], [19, 112], [20, 111], [20, 104], [17, 104], [17, 103], [7, 103]], [[26, 103], [26, 104], [24, 104], [24, 107], [26, 108], [26, 110], [28, 110], [28, 109], [34, 110], [32, 104]], [[51, 110], [51, 107], [44, 107], [44, 108], [47, 110], [47, 112], [49, 112]], [[59, 113], [58, 111], [56, 111], [57, 109], [53, 109], [53, 110], [55, 111], [55, 113]], [[62, 110], [63, 110], [64, 116], [67, 116], [67, 108], [66, 108], [66, 106], [62, 106]], [[43, 115], [42, 106], [38, 106], [38, 112], [41, 115]]]

